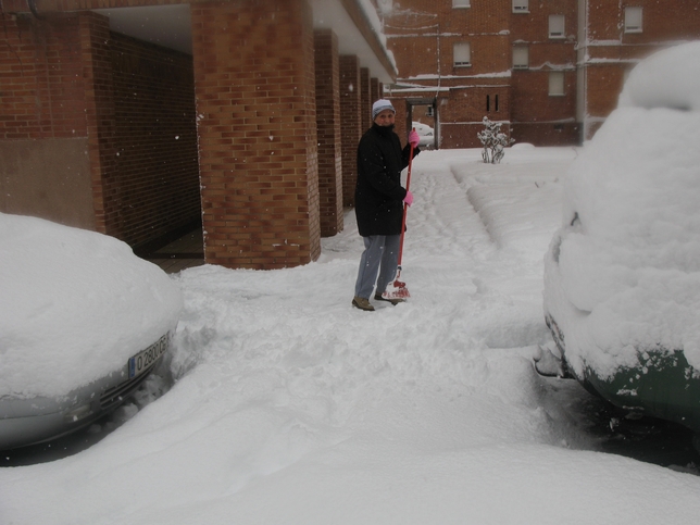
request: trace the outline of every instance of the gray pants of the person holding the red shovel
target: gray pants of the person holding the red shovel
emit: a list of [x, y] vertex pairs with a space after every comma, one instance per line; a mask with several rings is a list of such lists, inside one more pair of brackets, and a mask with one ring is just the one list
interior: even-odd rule
[[[373, 235], [363, 237], [364, 251], [360, 258], [358, 280], [354, 284], [354, 295], [370, 299], [374, 284], [377, 293], [383, 293], [387, 285], [396, 276], [399, 264], [400, 235]], [[379, 278], [377, 279], [377, 273]]]

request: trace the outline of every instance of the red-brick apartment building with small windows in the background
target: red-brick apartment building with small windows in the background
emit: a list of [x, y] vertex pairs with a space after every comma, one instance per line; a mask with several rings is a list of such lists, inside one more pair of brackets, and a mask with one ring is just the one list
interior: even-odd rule
[[[700, 38], [697, 0], [380, 0], [399, 70], [385, 95], [435, 147], [480, 147], [488, 117], [517, 142], [576, 145], [615, 108], [628, 72]], [[403, 114], [404, 113], [404, 114]], [[404, 133], [405, 129], [401, 129]]]

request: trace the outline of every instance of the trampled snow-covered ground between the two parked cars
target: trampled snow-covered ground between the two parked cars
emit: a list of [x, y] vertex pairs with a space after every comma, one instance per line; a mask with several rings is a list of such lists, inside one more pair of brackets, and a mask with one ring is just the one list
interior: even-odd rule
[[0, 470], [0, 523], [697, 523], [698, 476], [593, 451], [566, 410], [588, 395], [533, 367], [579, 154], [423, 152], [405, 304], [351, 308], [352, 214], [312, 264], [173, 276], [174, 387], [88, 450]]

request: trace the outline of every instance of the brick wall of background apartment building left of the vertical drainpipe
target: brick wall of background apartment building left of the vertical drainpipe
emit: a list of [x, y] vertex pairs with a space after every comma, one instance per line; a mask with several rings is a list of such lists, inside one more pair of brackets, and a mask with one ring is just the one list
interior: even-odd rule
[[[484, 116], [503, 122], [507, 133], [511, 122], [515, 125], [552, 121], [545, 127], [527, 128], [541, 132], [545, 142], [575, 136], [561, 133], [561, 127], [562, 121], [573, 121], [576, 114], [576, 40], [549, 39], [549, 15], [563, 14], [567, 37], [575, 37], [577, 5], [577, 0], [530, 2], [529, 13], [515, 14], [510, 0], [472, 2], [468, 9], [453, 9], [451, 0], [401, 3], [402, 11], [387, 22], [389, 47], [397, 58], [400, 77], [411, 83], [412, 76], [423, 75], [422, 85], [436, 87], [430, 95], [438, 98], [440, 148], [480, 147], [476, 133], [483, 129]], [[453, 66], [453, 47], [458, 42], [470, 43], [470, 66]], [[532, 70], [508, 76], [514, 42], [528, 46]], [[552, 67], [567, 72], [564, 97], [548, 95], [548, 72]], [[438, 72], [443, 89], [439, 93], [437, 78], [426, 78], [437, 76]], [[407, 90], [395, 96], [420, 99], [426, 97], [426, 90]], [[518, 129], [528, 138], [536, 138], [533, 133], [525, 134], [524, 126]], [[576, 142], [577, 137], [573, 140]]]

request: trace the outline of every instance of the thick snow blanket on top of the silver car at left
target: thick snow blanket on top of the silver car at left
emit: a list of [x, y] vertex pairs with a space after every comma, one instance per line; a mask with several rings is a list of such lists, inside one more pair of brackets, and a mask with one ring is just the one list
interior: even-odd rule
[[174, 329], [182, 293], [112, 237], [0, 213], [0, 396], [55, 396]]

